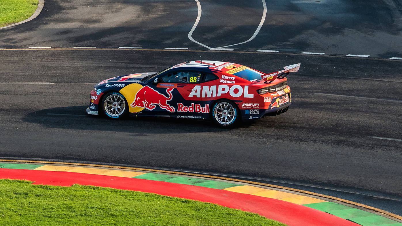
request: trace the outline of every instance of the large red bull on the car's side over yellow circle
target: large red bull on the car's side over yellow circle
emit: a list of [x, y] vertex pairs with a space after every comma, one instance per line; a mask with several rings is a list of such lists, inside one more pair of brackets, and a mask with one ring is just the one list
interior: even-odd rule
[[169, 95], [166, 97], [150, 86], [144, 86], [138, 90], [137, 94], [135, 94], [135, 99], [133, 103], [131, 103], [131, 107], [145, 107], [146, 109], [152, 111], [155, 109], [156, 105], [159, 105], [159, 107], [162, 109], [174, 112], [174, 107], [168, 104], [168, 101], [171, 101], [173, 98], [172, 90], [173, 88], [166, 89], [166, 92]]

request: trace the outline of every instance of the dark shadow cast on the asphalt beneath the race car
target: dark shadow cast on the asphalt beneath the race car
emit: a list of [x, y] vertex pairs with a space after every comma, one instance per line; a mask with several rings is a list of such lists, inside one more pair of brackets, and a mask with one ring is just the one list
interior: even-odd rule
[[[25, 115], [23, 121], [38, 123], [49, 128], [133, 133], [131, 136], [146, 136], [144, 134], [205, 133], [229, 130], [218, 128], [212, 121], [192, 119], [143, 116], [112, 120], [96, 115], [87, 115], [87, 107], [87, 105], [84, 105], [43, 109]], [[242, 123], [238, 127], [249, 127], [250, 125], [252, 125], [252, 123]]]

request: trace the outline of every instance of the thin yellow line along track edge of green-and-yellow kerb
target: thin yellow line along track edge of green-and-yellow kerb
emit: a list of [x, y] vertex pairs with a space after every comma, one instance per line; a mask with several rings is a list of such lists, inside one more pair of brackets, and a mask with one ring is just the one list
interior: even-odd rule
[[[372, 58], [374, 59], [374, 58]], [[393, 218], [402, 220], [402, 216], [387, 212], [385, 210], [381, 210], [378, 208], [371, 207], [369, 205], [364, 205], [361, 203], [357, 203], [354, 201], [349, 201], [346, 199], [340, 199], [337, 197], [332, 197], [329, 195], [323, 195], [320, 193], [315, 193], [315, 192], [310, 192], [310, 191], [304, 191], [300, 189], [294, 189], [290, 187], [283, 187], [283, 186], [278, 186], [278, 185], [270, 185], [266, 183], [260, 183], [260, 182], [254, 182], [254, 181], [246, 181], [246, 180], [240, 180], [240, 179], [232, 179], [228, 177], [217, 177], [217, 176], [212, 176], [212, 175], [202, 175], [202, 174], [196, 174], [196, 173], [184, 173], [184, 172], [174, 172], [174, 171], [165, 171], [165, 170], [155, 170], [155, 169], [147, 169], [147, 168], [136, 168], [136, 167], [126, 167], [126, 166], [108, 166], [108, 165], [98, 165], [98, 164], [86, 164], [86, 163], [76, 163], [76, 162], [51, 162], [51, 161], [36, 161], [36, 160], [10, 160], [10, 159], [0, 159], [0, 162], [23, 162], [23, 163], [39, 163], [39, 164], [64, 164], [64, 165], [73, 165], [73, 166], [92, 166], [92, 167], [107, 167], [107, 168], [120, 168], [120, 169], [129, 169], [129, 170], [138, 170], [138, 171], [150, 171], [150, 172], [158, 172], [158, 173], [170, 173], [170, 174], [176, 174], [176, 175], [187, 175], [187, 176], [194, 176], [194, 177], [205, 177], [205, 178], [213, 178], [213, 179], [219, 179], [219, 180], [225, 180], [225, 181], [235, 181], [235, 182], [241, 182], [241, 183], [248, 183], [248, 184], [254, 184], [254, 185], [261, 185], [261, 186], [266, 186], [266, 187], [274, 187], [274, 188], [279, 188], [279, 189], [285, 189], [289, 191], [296, 191], [300, 193], [305, 193], [308, 195], [315, 195], [318, 197], [324, 197], [327, 199], [332, 199], [336, 201], [341, 201], [344, 203], [349, 203], [352, 205], [357, 205], [369, 210], [373, 210], [375, 212], [379, 212], [381, 214], [385, 214], [388, 216], [391, 216]]]

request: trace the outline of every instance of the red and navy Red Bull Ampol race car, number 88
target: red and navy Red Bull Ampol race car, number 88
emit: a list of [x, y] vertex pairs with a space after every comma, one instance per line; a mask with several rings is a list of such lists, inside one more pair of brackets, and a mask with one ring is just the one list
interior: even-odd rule
[[90, 115], [213, 120], [220, 127], [287, 111], [287, 74], [300, 64], [265, 74], [229, 62], [187, 61], [160, 72], [117, 76], [90, 93]]

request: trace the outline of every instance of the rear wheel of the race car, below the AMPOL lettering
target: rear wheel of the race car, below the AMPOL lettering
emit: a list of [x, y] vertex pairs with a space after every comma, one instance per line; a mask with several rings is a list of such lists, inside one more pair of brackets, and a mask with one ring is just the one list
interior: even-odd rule
[[230, 100], [219, 100], [211, 109], [212, 120], [222, 128], [231, 128], [241, 120], [240, 110]]

